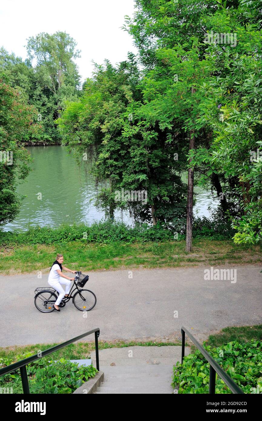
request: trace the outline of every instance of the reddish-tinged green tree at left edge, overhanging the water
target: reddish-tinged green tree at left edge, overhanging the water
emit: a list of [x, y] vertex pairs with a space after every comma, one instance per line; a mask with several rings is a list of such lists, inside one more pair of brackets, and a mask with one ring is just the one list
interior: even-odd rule
[[0, 78], [0, 226], [13, 221], [21, 199], [16, 192], [18, 180], [28, 175], [30, 157], [23, 145], [41, 129], [35, 123], [37, 111], [28, 106], [8, 78]]

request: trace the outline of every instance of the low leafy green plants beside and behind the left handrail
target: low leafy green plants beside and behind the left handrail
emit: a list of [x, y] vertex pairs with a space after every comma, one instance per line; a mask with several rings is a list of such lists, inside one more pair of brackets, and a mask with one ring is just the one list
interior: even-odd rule
[[[17, 355], [16, 361], [33, 355], [32, 352]], [[10, 358], [0, 358], [0, 366], [5, 367], [13, 362]], [[27, 365], [27, 376], [30, 393], [46, 394], [69, 394], [73, 393], [83, 383], [93, 378], [98, 371], [93, 365], [88, 367], [65, 360], [49, 360], [48, 357], [41, 358]], [[0, 378], [0, 387], [13, 388], [13, 393], [23, 393], [21, 387], [21, 376], [16, 372], [6, 374]]]

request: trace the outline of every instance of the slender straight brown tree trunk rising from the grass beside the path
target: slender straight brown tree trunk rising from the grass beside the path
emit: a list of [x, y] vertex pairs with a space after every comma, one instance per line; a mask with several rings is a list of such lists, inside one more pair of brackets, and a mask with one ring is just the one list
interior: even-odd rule
[[[191, 94], [195, 93], [195, 88], [191, 88]], [[195, 149], [195, 130], [190, 130], [190, 149]], [[191, 160], [189, 160], [189, 163]], [[188, 170], [187, 182], [187, 237], [186, 250], [192, 250], [192, 221], [193, 221], [193, 195], [194, 195], [194, 168]]]

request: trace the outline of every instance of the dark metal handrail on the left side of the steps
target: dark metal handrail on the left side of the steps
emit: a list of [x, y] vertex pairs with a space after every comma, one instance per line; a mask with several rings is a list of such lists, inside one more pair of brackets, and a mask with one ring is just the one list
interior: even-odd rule
[[78, 341], [81, 338], [84, 338], [85, 336], [91, 335], [91, 333], [95, 334], [95, 345], [96, 345], [96, 368], [99, 371], [99, 355], [98, 355], [98, 337], [100, 334], [100, 329], [96, 328], [93, 330], [89, 330], [86, 333], [83, 333], [82, 335], [76, 336], [75, 338], [70, 339], [69, 341], [63, 342], [62, 344], [52, 346], [52, 348], [48, 348], [45, 351], [41, 352], [41, 356], [39, 357], [39, 354], [32, 355], [31, 357], [24, 358], [24, 360], [20, 360], [17, 362], [14, 362], [13, 364], [7, 365], [6, 367], [0, 368], [0, 377], [4, 376], [5, 374], [11, 373], [14, 370], [18, 370], [20, 368], [21, 373], [21, 381], [23, 386], [24, 394], [29, 394], [29, 385], [28, 385], [28, 378], [27, 378], [27, 370], [26, 365], [30, 362], [40, 360], [40, 358], [45, 357], [46, 355], [52, 354], [52, 352], [57, 351], [58, 349], [64, 348], [64, 346], [70, 345], [75, 341]]

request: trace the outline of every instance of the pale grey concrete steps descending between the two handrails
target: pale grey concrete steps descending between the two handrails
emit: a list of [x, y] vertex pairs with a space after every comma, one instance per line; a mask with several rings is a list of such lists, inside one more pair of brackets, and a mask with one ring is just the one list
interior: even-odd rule
[[[189, 354], [189, 348], [185, 349]], [[95, 365], [95, 353], [91, 353]], [[131, 346], [99, 351], [104, 382], [97, 394], [169, 394], [181, 346]]]

